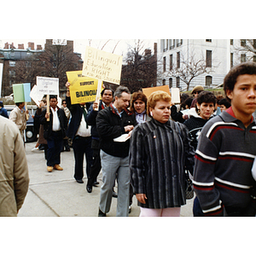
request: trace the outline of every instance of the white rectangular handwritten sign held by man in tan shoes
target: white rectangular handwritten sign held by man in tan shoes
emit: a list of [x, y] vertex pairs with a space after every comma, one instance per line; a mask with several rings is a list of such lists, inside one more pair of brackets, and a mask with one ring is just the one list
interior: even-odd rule
[[37, 77], [37, 87], [39, 94], [59, 95], [59, 79]]

